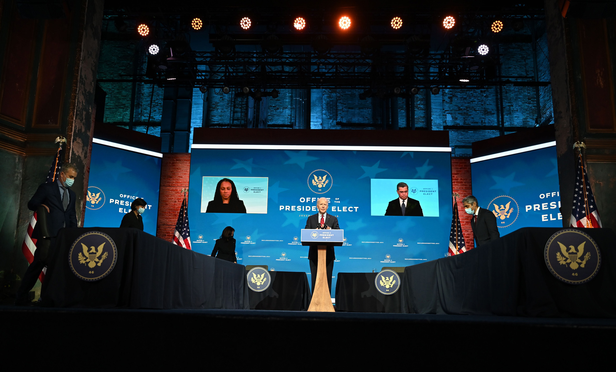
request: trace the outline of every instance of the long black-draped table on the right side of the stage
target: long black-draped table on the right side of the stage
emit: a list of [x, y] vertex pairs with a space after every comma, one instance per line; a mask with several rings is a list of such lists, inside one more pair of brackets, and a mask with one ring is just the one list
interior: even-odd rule
[[543, 259], [561, 228], [521, 228], [463, 254], [408, 266], [403, 308], [410, 313], [524, 317], [616, 317], [616, 236], [609, 228], [581, 228], [601, 250], [593, 280], [557, 280]]

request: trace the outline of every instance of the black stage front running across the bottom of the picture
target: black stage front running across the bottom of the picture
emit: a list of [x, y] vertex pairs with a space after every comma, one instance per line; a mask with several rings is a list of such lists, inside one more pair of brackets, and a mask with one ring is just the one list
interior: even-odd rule
[[[303, 369], [306, 358], [326, 363], [322, 368], [528, 368], [539, 359], [545, 366], [588, 368], [612, 354], [616, 339], [613, 319], [12, 306], [0, 307], [0, 317], [2, 334], [11, 335], [1, 341], [5, 355], [34, 347], [39, 335], [40, 360], [85, 363], [90, 355], [97, 368], [219, 365], [221, 358], [247, 370]], [[575, 358], [567, 357], [572, 346]]]

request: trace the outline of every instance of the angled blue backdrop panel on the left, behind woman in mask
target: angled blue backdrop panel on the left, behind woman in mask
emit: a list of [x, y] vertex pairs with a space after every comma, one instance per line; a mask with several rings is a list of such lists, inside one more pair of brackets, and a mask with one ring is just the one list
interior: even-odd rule
[[144, 231], [156, 235], [161, 159], [92, 144], [84, 227], [120, 227], [131, 203], [143, 198]]

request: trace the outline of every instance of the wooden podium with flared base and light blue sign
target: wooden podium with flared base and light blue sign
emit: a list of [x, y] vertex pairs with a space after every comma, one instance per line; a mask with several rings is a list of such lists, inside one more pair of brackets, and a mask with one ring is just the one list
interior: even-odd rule
[[342, 246], [344, 230], [309, 230], [302, 228], [302, 245], [318, 247], [317, 278], [308, 311], [334, 312], [327, 278], [326, 254], [328, 246]]

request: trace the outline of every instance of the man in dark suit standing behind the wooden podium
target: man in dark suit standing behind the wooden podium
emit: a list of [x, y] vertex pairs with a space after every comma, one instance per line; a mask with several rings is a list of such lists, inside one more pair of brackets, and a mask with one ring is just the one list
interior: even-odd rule
[[[306, 227], [304, 228], [333, 228], [335, 230], [340, 230], [338, 225], [338, 219], [335, 216], [331, 216], [331, 214], [327, 213], [327, 208], [329, 203], [327, 198], [318, 198], [317, 200], [317, 209], [318, 213], [313, 214], [308, 217], [306, 220]], [[334, 259], [336, 259], [336, 254], [334, 254], [334, 247], [327, 247], [325, 262], [327, 264], [327, 284], [330, 286], [330, 294], [331, 294], [331, 273], [334, 270]], [[310, 277], [312, 280], [312, 291], [314, 292], [314, 284], [317, 281], [317, 267], [318, 267], [318, 248], [315, 245], [310, 246], [310, 250], [308, 251], [308, 260], [310, 262]]]

